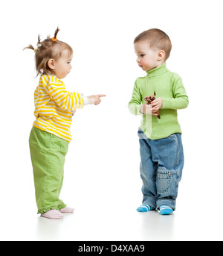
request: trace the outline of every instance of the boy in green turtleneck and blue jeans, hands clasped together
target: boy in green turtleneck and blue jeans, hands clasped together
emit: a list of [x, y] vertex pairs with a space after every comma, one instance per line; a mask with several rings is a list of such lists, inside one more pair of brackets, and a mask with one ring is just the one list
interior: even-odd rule
[[[147, 73], [135, 81], [129, 102], [131, 113], [142, 114], [138, 136], [143, 205], [137, 210], [158, 209], [162, 215], [167, 215], [175, 210], [184, 166], [177, 110], [187, 107], [188, 97], [179, 75], [167, 69], [172, 44], [164, 31], [144, 31], [135, 38], [134, 46], [138, 66]], [[156, 99], [146, 104], [144, 98], [154, 92]]]

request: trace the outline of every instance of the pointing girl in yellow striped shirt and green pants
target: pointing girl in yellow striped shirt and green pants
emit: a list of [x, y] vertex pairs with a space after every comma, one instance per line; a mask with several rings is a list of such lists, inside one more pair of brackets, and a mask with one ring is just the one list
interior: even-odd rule
[[61, 81], [71, 70], [73, 50], [67, 43], [48, 37], [33, 46], [25, 47], [35, 52], [36, 72], [40, 75], [34, 93], [36, 120], [30, 132], [30, 156], [33, 165], [36, 205], [38, 213], [49, 219], [61, 219], [62, 213], [72, 213], [59, 199], [62, 188], [63, 166], [68, 144], [71, 142], [70, 127], [77, 108], [86, 104], [100, 104], [105, 95], [83, 96], [65, 90]]

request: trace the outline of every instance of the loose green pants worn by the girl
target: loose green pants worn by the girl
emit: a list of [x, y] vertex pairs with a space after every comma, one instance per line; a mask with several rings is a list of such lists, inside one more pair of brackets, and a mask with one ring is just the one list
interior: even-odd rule
[[59, 199], [59, 193], [69, 143], [54, 134], [33, 127], [29, 144], [38, 213], [51, 209], [60, 210], [66, 206]]

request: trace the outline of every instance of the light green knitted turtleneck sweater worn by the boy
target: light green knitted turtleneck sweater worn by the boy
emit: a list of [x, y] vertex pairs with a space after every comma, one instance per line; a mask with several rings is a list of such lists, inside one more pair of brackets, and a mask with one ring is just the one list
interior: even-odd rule
[[161, 119], [150, 114], [142, 114], [141, 129], [151, 140], [168, 137], [170, 134], [181, 133], [178, 123], [177, 110], [187, 107], [189, 101], [179, 75], [170, 72], [166, 63], [158, 68], [146, 72], [147, 75], [138, 78], [129, 102], [129, 110], [134, 115], [140, 114], [140, 107], [146, 104], [144, 97], [156, 93], [156, 99], [163, 99], [163, 106], [159, 110]]

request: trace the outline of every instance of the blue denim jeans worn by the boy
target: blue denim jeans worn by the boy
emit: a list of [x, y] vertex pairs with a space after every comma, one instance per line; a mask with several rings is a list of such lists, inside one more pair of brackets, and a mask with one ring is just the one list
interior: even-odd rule
[[140, 177], [143, 181], [143, 204], [159, 208], [168, 205], [175, 210], [178, 183], [184, 166], [181, 134], [150, 140], [138, 130], [140, 142]]

